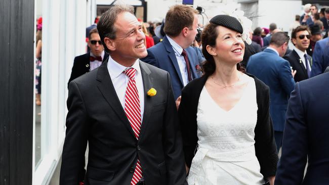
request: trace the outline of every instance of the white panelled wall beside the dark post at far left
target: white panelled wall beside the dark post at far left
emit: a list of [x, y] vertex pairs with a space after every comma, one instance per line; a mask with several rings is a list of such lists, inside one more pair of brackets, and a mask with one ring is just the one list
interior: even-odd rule
[[61, 157], [67, 81], [74, 57], [86, 53], [87, 5], [80, 0], [44, 0], [42, 4], [42, 160], [33, 169], [32, 184], [48, 184]]

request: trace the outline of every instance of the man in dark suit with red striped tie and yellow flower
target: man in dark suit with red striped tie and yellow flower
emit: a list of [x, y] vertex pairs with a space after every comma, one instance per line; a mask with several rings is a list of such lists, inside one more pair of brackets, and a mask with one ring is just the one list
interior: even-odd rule
[[145, 35], [134, 8], [115, 5], [97, 29], [110, 53], [72, 80], [60, 184], [78, 184], [89, 143], [85, 184], [186, 183], [182, 138], [169, 73], [146, 64]]

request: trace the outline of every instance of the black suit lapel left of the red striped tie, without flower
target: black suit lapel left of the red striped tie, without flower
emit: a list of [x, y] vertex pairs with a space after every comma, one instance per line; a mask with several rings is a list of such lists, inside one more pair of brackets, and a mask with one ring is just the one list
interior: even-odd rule
[[126, 113], [122, 108], [119, 98], [116, 95], [116, 91], [114, 89], [111, 77], [107, 70], [107, 62], [108, 60], [99, 67], [99, 70], [97, 72], [97, 80], [99, 81], [99, 84], [97, 85], [97, 87], [101, 91], [107, 103], [111, 106], [112, 110], [120, 118], [122, 123], [127, 127], [127, 129], [134, 136], [134, 138], [136, 138], [135, 133], [126, 116]]

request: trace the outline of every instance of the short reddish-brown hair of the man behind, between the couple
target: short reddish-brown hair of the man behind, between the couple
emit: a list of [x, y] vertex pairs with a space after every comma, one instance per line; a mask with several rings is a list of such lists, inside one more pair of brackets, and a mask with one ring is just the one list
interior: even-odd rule
[[175, 5], [169, 9], [166, 15], [166, 23], [163, 31], [169, 36], [178, 36], [183, 28], [192, 29], [194, 15], [198, 11], [186, 5]]

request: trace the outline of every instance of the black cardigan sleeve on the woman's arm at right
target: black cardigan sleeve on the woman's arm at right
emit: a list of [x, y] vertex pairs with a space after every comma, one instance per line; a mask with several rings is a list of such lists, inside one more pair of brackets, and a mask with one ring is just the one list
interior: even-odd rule
[[257, 92], [259, 105], [257, 111], [257, 124], [255, 127], [255, 151], [256, 156], [261, 166], [261, 173], [265, 178], [274, 176], [276, 173], [276, 166], [278, 155], [274, 141], [274, 130], [272, 119], [270, 116], [270, 92], [269, 87], [258, 87]]

